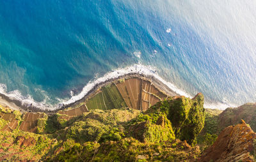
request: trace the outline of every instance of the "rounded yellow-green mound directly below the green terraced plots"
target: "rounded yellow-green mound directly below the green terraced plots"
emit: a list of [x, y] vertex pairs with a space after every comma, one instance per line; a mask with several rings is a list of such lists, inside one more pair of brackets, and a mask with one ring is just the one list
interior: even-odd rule
[[94, 110], [93, 112], [85, 113], [81, 119], [68, 127], [66, 138], [74, 139], [79, 143], [106, 141], [108, 136], [109, 140], [111, 140], [118, 133], [114, 132], [115, 135], [113, 136], [108, 135], [108, 133], [114, 130], [124, 130], [122, 123], [131, 120], [139, 113], [138, 110], [116, 109], [108, 111]]

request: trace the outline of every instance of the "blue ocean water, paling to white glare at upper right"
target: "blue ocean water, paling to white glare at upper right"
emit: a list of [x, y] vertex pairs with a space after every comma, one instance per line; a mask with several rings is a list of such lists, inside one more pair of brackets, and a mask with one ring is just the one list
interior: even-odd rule
[[253, 0], [1, 1], [0, 91], [55, 107], [109, 71], [141, 64], [189, 96], [203, 92], [207, 107], [255, 102], [255, 8]]

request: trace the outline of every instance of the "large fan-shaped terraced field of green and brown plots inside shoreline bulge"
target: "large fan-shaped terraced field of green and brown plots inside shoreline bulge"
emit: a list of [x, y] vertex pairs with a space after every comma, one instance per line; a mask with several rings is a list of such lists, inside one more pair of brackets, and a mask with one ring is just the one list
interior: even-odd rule
[[145, 111], [165, 98], [167, 95], [151, 82], [141, 78], [129, 78], [102, 87], [97, 94], [88, 99], [86, 106], [88, 110], [129, 107]]

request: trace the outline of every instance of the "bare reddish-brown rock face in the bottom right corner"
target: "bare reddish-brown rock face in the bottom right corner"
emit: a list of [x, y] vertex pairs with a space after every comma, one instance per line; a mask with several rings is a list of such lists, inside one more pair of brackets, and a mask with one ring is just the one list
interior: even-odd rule
[[223, 129], [199, 161], [253, 161], [255, 139], [256, 133], [241, 120], [241, 124]]

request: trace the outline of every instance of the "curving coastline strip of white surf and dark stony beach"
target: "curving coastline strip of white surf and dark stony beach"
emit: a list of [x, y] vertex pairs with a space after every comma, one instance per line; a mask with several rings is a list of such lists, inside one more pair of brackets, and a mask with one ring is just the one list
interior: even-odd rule
[[[116, 80], [119, 79], [132, 77], [138, 77], [152, 82], [152, 84], [156, 85], [157, 89], [163, 91], [168, 96], [185, 96], [188, 98], [193, 98], [193, 96], [190, 96], [186, 92], [175, 87], [175, 85], [173, 85], [172, 83], [164, 80], [159, 75], [157, 75], [156, 70], [154, 70], [154, 68], [152, 68], [151, 66], [134, 64], [133, 66], [129, 66], [127, 68], [120, 68], [117, 70], [109, 71], [104, 76], [91, 80], [86, 85], [84, 85], [83, 89], [81, 89], [81, 92], [79, 92], [79, 94], [77, 94], [76, 96], [72, 96], [67, 100], [60, 101], [60, 103], [57, 103], [56, 105], [49, 105], [45, 102], [36, 102], [33, 100], [33, 98], [31, 98], [31, 96], [19, 96], [20, 93], [18, 93], [18, 96], [14, 93], [8, 93], [4, 91], [3, 85], [0, 87], [0, 101], [2, 100], [1, 102], [3, 103], [3, 105], [8, 105], [7, 103], [12, 103], [12, 105], [9, 104], [8, 107], [11, 107], [13, 110], [19, 109], [23, 112], [55, 113], [58, 112], [58, 110], [63, 110], [68, 107], [77, 107], [79, 103], [85, 102], [86, 99], [92, 97], [93, 94], [97, 93], [97, 90], [104, 85], [107, 85], [111, 82], [116, 82]], [[217, 102], [205, 103], [204, 107], [225, 110], [225, 108], [236, 106]]]

